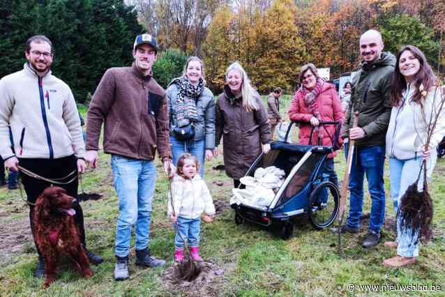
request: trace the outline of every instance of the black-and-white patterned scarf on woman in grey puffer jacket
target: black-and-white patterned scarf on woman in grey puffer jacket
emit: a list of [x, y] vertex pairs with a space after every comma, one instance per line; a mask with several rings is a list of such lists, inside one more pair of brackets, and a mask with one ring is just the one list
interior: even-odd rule
[[204, 89], [204, 80], [200, 78], [197, 86], [193, 86], [193, 84], [190, 84], [188, 77], [178, 77], [173, 79], [170, 84], [176, 84], [178, 87], [175, 107], [176, 126], [183, 127], [188, 125], [190, 121], [199, 121], [196, 101]]

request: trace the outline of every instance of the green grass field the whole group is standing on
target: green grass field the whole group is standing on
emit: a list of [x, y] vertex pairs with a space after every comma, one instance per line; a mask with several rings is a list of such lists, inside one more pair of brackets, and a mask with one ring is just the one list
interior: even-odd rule
[[[289, 104], [284, 101], [283, 113]], [[172, 265], [174, 230], [167, 224], [167, 180], [160, 162], [156, 162], [151, 251]], [[100, 192], [103, 199], [84, 201], [82, 208], [89, 249], [101, 254], [105, 262], [92, 267], [95, 275], [89, 280], [82, 279], [66, 262], [56, 282], [47, 290], [41, 289], [43, 280], [32, 277], [37, 257], [29, 230], [28, 207], [19, 190], [1, 188], [0, 296], [445, 296], [445, 160], [438, 160], [430, 183], [435, 206], [435, 239], [421, 245], [418, 264], [402, 269], [382, 266], [384, 259], [395, 254], [383, 246], [383, 241], [395, 237], [390, 229], [382, 230], [382, 243], [370, 250], [360, 245], [366, 226], [358, 236], [342, 236], [344, 255], [339, 257], [337, 235], [327, 229], [315, 231], [306, 215], [298, 218], [294, 235], [288, 241], [282, 241], [275, 231], [254, 224], [236, 225], [234, 211], [227, 208], [232, 180], [224, 172], [212, 169], [222, 163], [221, 156], [206, 163], [205, 180], [219, 212], [215, 222], [202, 225], [202, 257], [223, 271], [208, 284], [201, 288], [172, 287], [165, 281], [165, 268], [135, 266], [134, 250], [130, 257], [130, 279], [114, 281], [117, 197], [110, 156], [101, 154], [99, 167], [84, 174], [82, 183], [85, 192]], [[345, 172], [342, 153], [335, 158], [335, 169], [342, 180]], [[388, 172], [386, 167], [386, 219], [391, 219], [394, 211], [389, 199]], [[369, 200], [366, 195], [365, 212], [369, 211]], [[441, 286], [441, 291], [370, 291], [360, 287], [409, 284]]]

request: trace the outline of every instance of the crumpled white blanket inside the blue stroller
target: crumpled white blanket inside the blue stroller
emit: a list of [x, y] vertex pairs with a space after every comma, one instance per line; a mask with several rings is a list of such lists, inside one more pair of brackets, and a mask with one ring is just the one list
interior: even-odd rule
[[285, 172], [275, 166], [258, 168], [254, 176], [244, 176], [240, 182], [246, 189], [232, 189], [233, 197], [230, 204], [246, 204], [263, 208], [269, 206], [275, 197], [274, 190], [278, 190], [284, 182]]

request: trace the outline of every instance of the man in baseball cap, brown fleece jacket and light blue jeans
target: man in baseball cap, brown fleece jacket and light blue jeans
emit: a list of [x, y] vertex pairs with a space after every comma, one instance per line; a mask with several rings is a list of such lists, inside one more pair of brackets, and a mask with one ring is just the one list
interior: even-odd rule
[[151, 256], [149, 250], [156, 149], [166, 173], [172, 159], [167, 95], [153, 79], [151, 71], [157, 53], [153, 36], [137, 36], [133, 45], [133, 66], [108, 69], [89, 105], [85, 160], [91, 167], [97, 167], [100, 129], [104, 122], [103, 150], [111, 154], [114, 188], [119, 197], [115, 280], [128, 278], [133, 224], [136, 265], [158, 267], [166, 264]]

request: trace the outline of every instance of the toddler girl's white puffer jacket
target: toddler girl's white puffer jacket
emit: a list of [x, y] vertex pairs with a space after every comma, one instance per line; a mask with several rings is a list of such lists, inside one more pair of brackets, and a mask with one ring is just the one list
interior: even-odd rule
[[[173, 213], [170, 193], [168, 201], [168, 215]], [[206, 182], [199, 174], [193, 179], [186, 179], [182, 176], [174, 176], [172, 182], [172, 196], [174, 213], [176, 217], [186, 219], [199, 218], [201, 213], [213, 215], [215, 206], [211, 198]]]

